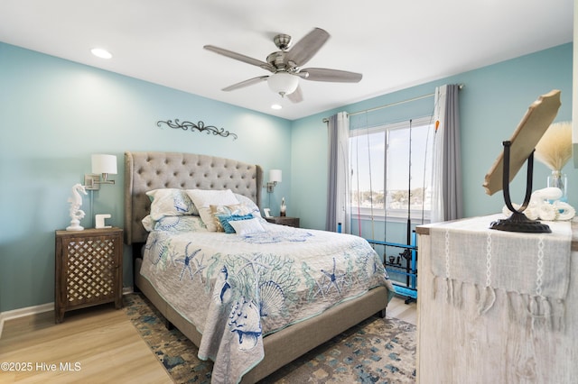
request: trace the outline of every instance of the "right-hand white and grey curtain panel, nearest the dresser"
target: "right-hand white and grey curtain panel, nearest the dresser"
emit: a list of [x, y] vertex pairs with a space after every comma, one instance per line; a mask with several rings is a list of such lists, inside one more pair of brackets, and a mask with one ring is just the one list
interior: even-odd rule
[[463, 217], [458, 85], [435, 88], [432, 223]]

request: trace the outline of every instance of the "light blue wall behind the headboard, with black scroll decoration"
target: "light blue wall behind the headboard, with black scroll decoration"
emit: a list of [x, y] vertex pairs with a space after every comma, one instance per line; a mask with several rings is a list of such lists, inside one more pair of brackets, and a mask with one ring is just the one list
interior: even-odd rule
[[[54, 231], [70, 224], [70, 188], [90, 173], [92, 153], [117, 155], [118, 174], [94, 192], [92, 212], [84, 197], [87, 228], [98, 213], [123, 226], [124, 151], [204, 153], [292, 173], [290, 147], [271, 145], [291, 142], [287, 120], [3, 43], [0, 116], [0, 312], [53, 301]], [[175, 118], [238, 139], [156, 125]], [[275, 187], [275, 207], [290, 187], [289, 177]], [[128, 247], [124, 265], [130, 286]]]

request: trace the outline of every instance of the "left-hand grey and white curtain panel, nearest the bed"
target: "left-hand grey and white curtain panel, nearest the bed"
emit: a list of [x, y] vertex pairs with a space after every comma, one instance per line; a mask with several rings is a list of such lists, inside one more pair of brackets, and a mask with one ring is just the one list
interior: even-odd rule
[[350, 233], [350, 116], [346, 112], [329, 118], [329, 185], [325, 229]]

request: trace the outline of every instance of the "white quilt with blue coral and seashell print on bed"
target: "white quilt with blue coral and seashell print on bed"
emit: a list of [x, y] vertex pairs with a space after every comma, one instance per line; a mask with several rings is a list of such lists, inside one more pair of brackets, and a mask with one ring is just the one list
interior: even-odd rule
[[[153, 230], [141, 274], [202, 334], [213, 382], [236, 383], [263, 360], [263, 337], [385, 286], [368, 242], [269, 224], [238, 235]], [[391, 296], [390, 296], [391, 297]]]

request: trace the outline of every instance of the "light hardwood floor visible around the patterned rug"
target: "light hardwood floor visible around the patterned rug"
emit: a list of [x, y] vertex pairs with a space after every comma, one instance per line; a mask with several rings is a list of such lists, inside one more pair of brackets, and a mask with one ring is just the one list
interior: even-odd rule
[[[415, 325], [416, 304], [394, 297], [387, 317]], [[0, 370], [1, 383], [172, 383], [125, 312], [112, 305], [71, 311], [59, 325], [53, 312], [7, 321], [2, 362], [20, 370]]]

